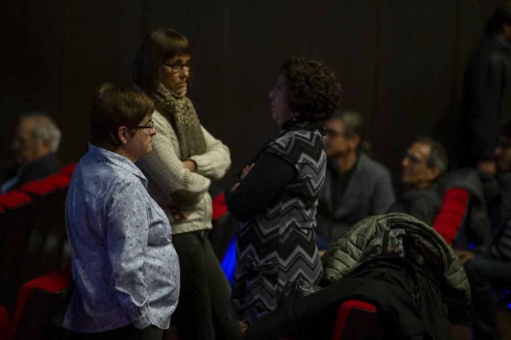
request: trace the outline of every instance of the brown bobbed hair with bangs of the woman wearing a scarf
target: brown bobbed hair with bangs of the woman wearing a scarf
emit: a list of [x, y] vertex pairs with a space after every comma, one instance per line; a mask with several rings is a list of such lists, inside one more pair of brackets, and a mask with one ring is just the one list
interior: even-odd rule
[[154, 90], [161, 62], [167, 58], [190, 56], [191, 52], [188, 39], [179, 32], [167, 28], [149, 32], [131, 66], [133, 82], [146, 91]]

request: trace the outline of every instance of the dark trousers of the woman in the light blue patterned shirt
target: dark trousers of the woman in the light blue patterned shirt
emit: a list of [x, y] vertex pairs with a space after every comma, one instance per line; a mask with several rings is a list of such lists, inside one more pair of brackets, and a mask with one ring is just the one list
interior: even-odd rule
[[137, 329], [133, 325], [100, 333], [80, 333], [61, 328], [58, 340], [161, 340], [163, 330], [154, 325]]

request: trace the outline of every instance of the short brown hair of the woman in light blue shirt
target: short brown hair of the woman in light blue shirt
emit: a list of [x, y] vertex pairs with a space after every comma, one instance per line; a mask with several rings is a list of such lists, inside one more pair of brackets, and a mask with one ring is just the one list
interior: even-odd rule
[[91, 144], [109, 151], [117, 150], [121, 145], [118, 129], [126, 126], [134, 134], [133, 127], [152, 112], [154, 104], [144, 93], [110, 83], [101, 84], [92, 98]]

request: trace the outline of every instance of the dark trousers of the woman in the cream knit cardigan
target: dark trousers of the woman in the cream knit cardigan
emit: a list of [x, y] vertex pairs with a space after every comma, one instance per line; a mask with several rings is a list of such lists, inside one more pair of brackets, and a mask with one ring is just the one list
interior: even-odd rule
[[227, 315], [230, 286], [207, 232], [172, 235], [172, 244], [181, 271], [179, 302], [171, 319], [179, 339], [241, 339], [240, 323]]

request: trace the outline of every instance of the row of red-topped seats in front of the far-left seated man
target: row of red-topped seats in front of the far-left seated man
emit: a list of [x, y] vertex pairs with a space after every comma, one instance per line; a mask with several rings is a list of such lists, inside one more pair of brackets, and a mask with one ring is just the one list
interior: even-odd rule
[[0, 195], [0, 305], [12, 312], [18, 288], [59, 269], [67, 243], [64, 206], [76, 164]]

